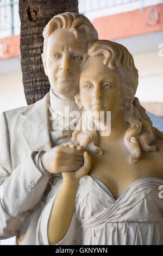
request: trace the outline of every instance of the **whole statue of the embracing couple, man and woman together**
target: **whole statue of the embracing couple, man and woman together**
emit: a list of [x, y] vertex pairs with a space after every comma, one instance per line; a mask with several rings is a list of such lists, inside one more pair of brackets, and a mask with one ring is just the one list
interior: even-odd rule
[[134, 97], [133, 57], [80, 14], [43, 37], [50, 92], [0, 120], [0, 239], [162, 245], [163, 135]]

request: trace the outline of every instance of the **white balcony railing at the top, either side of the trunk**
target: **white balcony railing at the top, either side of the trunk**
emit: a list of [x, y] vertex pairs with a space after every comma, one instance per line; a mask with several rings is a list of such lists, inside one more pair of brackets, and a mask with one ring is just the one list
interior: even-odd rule
[[[0, 0], [0, 38], [20, 34], [18, 2], [18, 0]], [[86, 16], [87, 13], [96, 13], [94, 18], [96, 15], [99, 17], [129, 11], [129, 8], [126, 9], [129, 5], [137, 9], [159, 3], [163, 3], [163, 0], [79, 0], [79, 13]], [[113, 13], [109, 12], [111, 8], [114, 8]], [[88, 17], [91, 19], [91, 16]]]

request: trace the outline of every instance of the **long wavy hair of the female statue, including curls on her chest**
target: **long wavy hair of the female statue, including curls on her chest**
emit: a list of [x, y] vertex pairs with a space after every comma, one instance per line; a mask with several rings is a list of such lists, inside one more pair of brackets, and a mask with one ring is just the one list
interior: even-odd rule
[[[140, 105], [139, 99], [135, 96], [138, 85], [138, 71], [135, 68], [133, 56], [126, 47], [116, 42], [108, 40], [98, 40], [94, 42], [88, 50], [89, 56], [104, 56], [104, 65], [115, 70], [122, 77], [121, 91], [123, 96], [122, 113], [123, 119], [128, 125], [124, 135], [124, 144], [130, 151], [129, 163], [139, 160], [142, 151], [156, 151], [152, 145], [154, 139], [163, 140], [163, 133], [153, 127], [151, 119], [146, 114], [146, 109]], [[82, 108], [80, 96], [75, 96], [77, 105]], [[86, 137], [82, 144], [80, 135]], [[88, 151], [101, 155], [102, 149], [98, 147], [98, 133], [95, 130], [79, 131], [75, 130], [72, 140], [79, 140]]]

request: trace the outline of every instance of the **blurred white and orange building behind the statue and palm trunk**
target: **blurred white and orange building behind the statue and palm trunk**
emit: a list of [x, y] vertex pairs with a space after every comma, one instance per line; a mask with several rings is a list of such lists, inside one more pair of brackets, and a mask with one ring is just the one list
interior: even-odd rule
[[[99, 39], [119, 42], [133, 54], [136, 96], [148, 112], [163, 117], [163, 0], [79, 0], [79, 13], [91, 20]], [[20, 59], [18, 1], [0, 0], [0, 112], [27, 105]]]

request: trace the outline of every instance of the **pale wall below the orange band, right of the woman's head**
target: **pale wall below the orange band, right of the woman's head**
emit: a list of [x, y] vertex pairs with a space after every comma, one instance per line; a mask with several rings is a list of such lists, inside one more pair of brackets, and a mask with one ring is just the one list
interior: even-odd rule
[[163, 31], [115, 41], [127, 47], [139, 70], [136, 96], [141, 102], [163, 102]]

